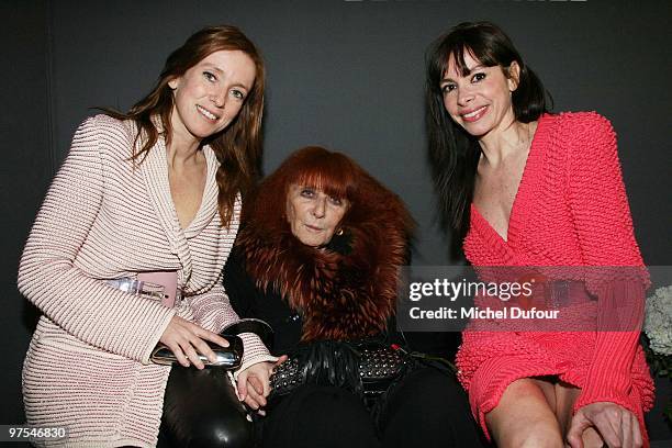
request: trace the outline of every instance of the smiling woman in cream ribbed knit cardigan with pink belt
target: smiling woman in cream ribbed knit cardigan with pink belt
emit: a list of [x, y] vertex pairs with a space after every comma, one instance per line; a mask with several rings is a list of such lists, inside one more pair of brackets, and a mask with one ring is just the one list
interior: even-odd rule
[[[176, 446], [249, 444], [239, 400], [264, 402], [276, 358], [240, 335], [239, 399], [204, 363], [238, 321], [220, 275], [256, 177], [264, 71], [238, 29], [206, 27], [127, 113], [77, 130], [19, 270], [43, 313], [23, 369], [30, 425], [67, 427], [67, 446], [155, 446], [161, 422]], [[158, 343], [179, 366], [150, 362]]]

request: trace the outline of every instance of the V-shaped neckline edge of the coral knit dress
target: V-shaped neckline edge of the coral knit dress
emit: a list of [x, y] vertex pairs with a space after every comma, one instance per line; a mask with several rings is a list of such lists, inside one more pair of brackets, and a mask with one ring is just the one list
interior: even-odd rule
[[[504, 243], [505, 245], [511, 244], [512, 237], [515, 237], [520, 224], [523, 223], [522, 217], [518, 212], [518, 202], [522, 201], [520, 198], [526, 198], [529, 190], [533, 186], [530, 184], [533, 180], [537, 179], [536, 175], [537, 168], [539, 167], [539, 157], [540, 157], [540, 148], [538, 148], [539, 136], [541, 135], [544, 122], [546, 121], [546, 116], [548, 114], [544, 114], [537, 121], [537, 128], [535, 130], [535, 134], [533, 135], [533, 139], [529, 144], [529, 152], [527, 154], [527, 159], [525, 160], [525, 166], [523, 167], [523, 175], [520, 176], [520, 181], [518, 182], [518, 188], [516, 189], [516, 194], [514, 195], [513, 203], [511, 205], [511, 213], [508, 214], [508, 223], [506, 225], [506, 235], [502, 236], [490, 222], [481, 214], [479, 209], [475, 206], [473, 202], [471, 202], [471, 214], [472, 216], [478, 217], [483, 222], [483, 226], [488, 228], [499, 240]], [[530, 179], [531, 178], [531, 179]], [[528, 209], [528, 208], [527, 208]], [[526, 209], [524, 209], [526, 210]]]

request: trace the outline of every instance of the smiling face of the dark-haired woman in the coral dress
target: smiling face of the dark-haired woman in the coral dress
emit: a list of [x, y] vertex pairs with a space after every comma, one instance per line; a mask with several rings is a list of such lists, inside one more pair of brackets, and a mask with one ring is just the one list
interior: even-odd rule
[[505, 130], [515, 121], [512, 92], [516, 90], [519, 67], [485, 67], [464, 51], [467, 74], [460, 72], [450, 55], [440, 88], [450, 117], [470, 135], [484, 138]]

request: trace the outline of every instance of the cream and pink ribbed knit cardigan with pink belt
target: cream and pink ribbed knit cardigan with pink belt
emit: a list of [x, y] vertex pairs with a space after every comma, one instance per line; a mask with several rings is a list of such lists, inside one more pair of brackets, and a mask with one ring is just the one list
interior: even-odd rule
[[[67, 426], [63, 447], [156, 445], [169, 367], [149, 354], [173, 314], [220, 332], [238, 317], [221, 271], [238, 231], [221, 226], [208, 146], [201, 208], [181, 229], [159, 137], [135, 169], [136, 127], [107, 115], [85, 121], [31, 231], [19, 289], [43, 313], [23, 368], [27, 423]], [[107, 285], [138, 271], [177, 270], [186, 298], [176, 309]], [[242, 368], [273, 360], [255, 335], [243, 335]], [[224, 373], [223, 373], [224, 374]]]

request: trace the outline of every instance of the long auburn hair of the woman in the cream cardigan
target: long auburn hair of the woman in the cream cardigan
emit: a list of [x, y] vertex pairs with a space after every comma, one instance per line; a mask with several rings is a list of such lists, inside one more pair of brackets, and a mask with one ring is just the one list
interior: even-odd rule
[[[255, 83], [247, 96], [236, 119], [222, 132], [210, 136], [203, 143], [209, 144], [220, 161], [216, 173], [219, 186], [217, 202], [222, 224], [231, 222], [236, 194], [245, 194], [253, 186], [258, 170], [261, 154], [261, 116], [264, 113], [265, 67], [259, 51], [235, 26], [210, 26], [192, 34], [184, 44], [173, 51], [166, 60], [154, 89], [128, 112], [122, 113], [111, 109], [103, 111], [119, 120], [133, 120], [138, 132], [131, 159], [142, 164], [147, 153], [156, 144], [159, 134], [170, 143], [173, 96], [168, 82], [178, 78], [191, 67], [214, 52], [222, 49], [240, 51], [255, 63]], [[154, 115], [161, 121], [163, 132], [153, 123]], [[142, 147], [138, 147], [142, 143]], [[139, 161], [138, 161], [139, 159]]]

